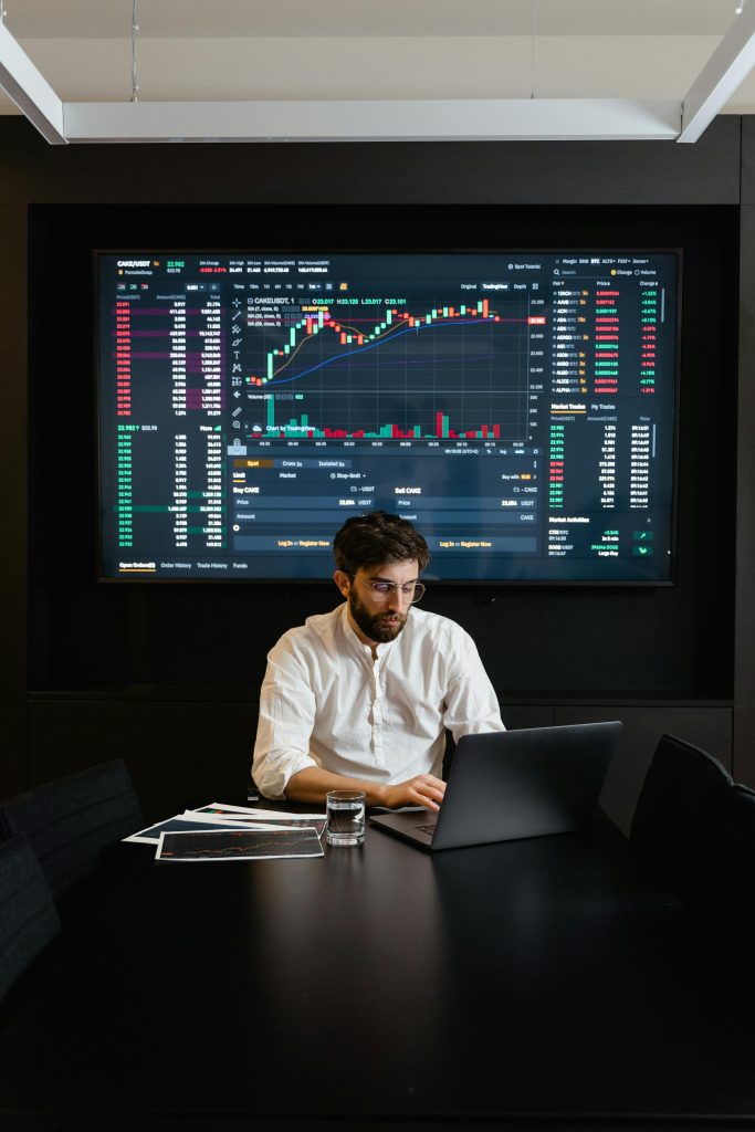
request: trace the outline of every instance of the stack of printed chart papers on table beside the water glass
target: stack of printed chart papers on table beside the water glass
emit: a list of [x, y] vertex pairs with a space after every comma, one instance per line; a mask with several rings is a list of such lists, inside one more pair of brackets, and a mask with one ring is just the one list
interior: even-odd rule
[[157, 860], [250, 860], [321, 857], [325, 814], [283, 814], [213, 801], [131, 833], [123, 841], [157, 847]]

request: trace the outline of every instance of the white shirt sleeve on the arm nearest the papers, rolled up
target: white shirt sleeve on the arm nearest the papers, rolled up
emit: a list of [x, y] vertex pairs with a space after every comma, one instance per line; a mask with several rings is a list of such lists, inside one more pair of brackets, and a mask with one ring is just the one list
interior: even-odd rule
[[315, 693], [307, 667], [283, 638], [267, 658], [251, 767], [255, 784], [266, 798], [285, 797], [293, 774], [318, 765], [309, 753], [314, 723]]

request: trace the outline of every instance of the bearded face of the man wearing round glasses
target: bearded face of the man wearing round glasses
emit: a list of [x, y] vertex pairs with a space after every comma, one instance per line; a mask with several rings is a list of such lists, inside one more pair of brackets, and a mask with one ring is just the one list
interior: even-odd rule
[[[336, 583], [349, 602], [349, 615], [357, 635], [368, 644], [395, 641], [404, 625], [411, 606], [411, 595], [401, 586], [417, 582], [415, 561], [385, 563], [359, 569], [353, 580], [336, 571]], [[389, 584], [383, 594], [374, 583]]]

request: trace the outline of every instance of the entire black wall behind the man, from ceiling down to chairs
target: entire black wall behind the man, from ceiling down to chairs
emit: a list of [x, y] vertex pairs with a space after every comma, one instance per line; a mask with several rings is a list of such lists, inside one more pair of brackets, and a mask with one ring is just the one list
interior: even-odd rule
[[[0, 348], [9, 413], [9, 444], [0, 446], [9, 516], [2, 559], [9, 743], [0, 795], [113, 749], [129, 760], [155, 807], [230, 790], [248, 762], [267, 649], [291, 624], [333, 603], [320, 586], [261, 593], [246, 584], [94, 582], [91, 309], [74, 297], [77, 286], [85, 294], [89, 286], [91, 246], [126, 243], [129, 232], [139, 233], [137, 243], [175, 235], [186, 245], [197, 224], [214, 230], [218, 243], [233, 232], [230, 242], [242, 235], [254, 245], [255, 233], [273, 225], [342, 238], [368, 230], [378, 245], [419, 230], [432, 246], [434, 228], [444, 225], [446, 246], [449, 226], [466, 246], [515, 237], [542, 246], [559, 242], [570, 225], [599, 243], [620, 232], [627, 243], [685, 248], [677, 586], [447, 588], [432, 593], [431, 607], [475, 636], [513, 726], [565, 712], [625, 718], [624, 770], [611, 788], [624, 822], [663, 729], [704, 739], [730, 764], [732, 705], [743, 736], [755, 706], [753, 685], [739, 675], [753, 664], [753, 615], [740, 619], [741, 609], [752, 610], [752, 581], [743, 581], [741, 569], [735, 574], [753, 523], [740, 490], [737, 550], [733, 483], [737, 474], [740, 487], [753, 482], [736, 446], [737, 275], [741, 258], [748, 278], [753, 255], [741, 170], [737, 118], [717, 120], [695, 146], [62, 148], [46, 146], [20, 119], [0, 121]], [[68, 275], [45, 274], [61, 256]], [[741, 372], [755, 353], [748, 333], [743, 325]]]

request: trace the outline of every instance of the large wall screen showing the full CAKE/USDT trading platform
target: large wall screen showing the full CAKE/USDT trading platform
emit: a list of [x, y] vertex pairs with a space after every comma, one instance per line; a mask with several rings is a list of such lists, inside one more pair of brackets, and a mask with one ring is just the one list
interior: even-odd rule
[[96, 259], [103, 578], [672, 581], [677, 252]]

